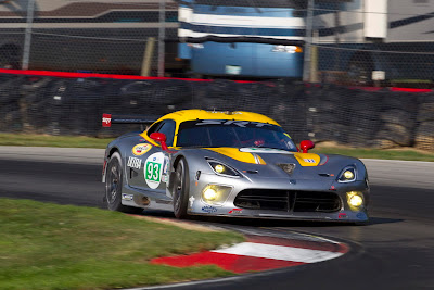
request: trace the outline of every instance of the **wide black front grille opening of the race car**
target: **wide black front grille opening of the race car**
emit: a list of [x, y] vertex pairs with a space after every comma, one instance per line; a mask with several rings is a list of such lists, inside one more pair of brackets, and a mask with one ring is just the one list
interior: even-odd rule
[[341, 199], [334, 192], [246, 189], [238, 193], [233, 204], [248, 210], [336, 212]]

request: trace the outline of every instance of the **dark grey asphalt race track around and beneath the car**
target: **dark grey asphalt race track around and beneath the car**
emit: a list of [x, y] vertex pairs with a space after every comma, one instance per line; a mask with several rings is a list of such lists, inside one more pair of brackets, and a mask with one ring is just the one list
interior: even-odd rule
[[[0, 197], [102, 207], [103, 150], [0, 147]], [[352, 251], [314, 265], [187, 283], [177, 289], [434, 289], [434, 163], [363, 161], [371, 181], [367, 226], [196, 218], [271, 236], [344, 241]], [[167, 212], [144, 214], [171, 217]]]

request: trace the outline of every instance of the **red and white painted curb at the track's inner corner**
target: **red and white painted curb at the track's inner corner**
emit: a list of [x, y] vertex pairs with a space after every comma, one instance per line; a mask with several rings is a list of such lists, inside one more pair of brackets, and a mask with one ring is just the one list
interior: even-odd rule
[[175, 267], [217, 265], [226, 270], [246, 273], [318, 263], [342, 256], [348, 250], [346, 244], [333, 241], [247, 236], [246, 242], [230, 248], [157, 257], [151, 260], [151, 263]]

